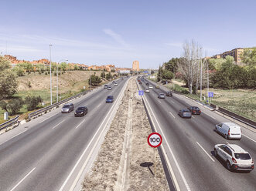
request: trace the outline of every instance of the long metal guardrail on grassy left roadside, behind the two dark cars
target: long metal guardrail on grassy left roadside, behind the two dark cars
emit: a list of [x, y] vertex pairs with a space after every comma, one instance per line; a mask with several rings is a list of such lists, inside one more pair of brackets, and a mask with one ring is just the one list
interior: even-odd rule
[[46, 111], [48, 111], [48, 110], [50, 110], [50, 109], [53, 109], [53, 108], [55, 108], [55, 107], [57, 107], [57, 106], [60, 106], [60, 105], [62, 105], [62, 104], [65, 103], [65, 102], [69, 102], [70, 100], [75, 99], [75, 98], [77, 98], [77, 97], [80, 97], [81, 95], [85, 95], [85, 94], [87, 94], [87, 92], [90, 92], [90, 90], [87, 90], [87, 91], [84, 91], [84, 92], [80, 92], [80, 93], [78, 93], [77, 95], [71, 96], [70, 98], [63, 99], [63, 100], [60, 101], [60, 102], [53, 103], [53, 105], [46, 106], [46, 107], [44, 107], [44, 108], [42, 108], [42, 109], [36, 110], [36, 112], [31, 112], [31, 113], [29, 113], [29, 120], [30, 120], [32, 117], [38, 116], [39, 114], [41, 114], [41, 113], [43, 113], [43, 112], [46, 112]]

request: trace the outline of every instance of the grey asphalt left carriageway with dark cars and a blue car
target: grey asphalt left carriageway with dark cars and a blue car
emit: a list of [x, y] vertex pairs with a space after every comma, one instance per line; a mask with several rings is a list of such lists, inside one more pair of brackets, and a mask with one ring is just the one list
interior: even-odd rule
[[[102, 86], [73, 101], [75, 109], [87, 106], [86, 116], [61, 113], [60, 107], [0, 135], [0, 190], [69, 190], [128, 78], [117, 82], [112, 90]], [[114, 95], [113, 103], [105, 103], [107, 95]]]

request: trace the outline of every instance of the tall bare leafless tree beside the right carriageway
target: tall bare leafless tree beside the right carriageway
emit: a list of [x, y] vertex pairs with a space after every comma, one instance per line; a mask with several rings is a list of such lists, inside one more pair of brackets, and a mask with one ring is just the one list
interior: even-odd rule
[[[183, 56], [179, 59], [179, 72], [183, 74], [186, 85], [189, 87], [189, 93], [192, 94], [193, 89], [197, 90], [200, 81], [200, 66], [202, 64], [202, 74], [205, 72], [206, 59], [201, 62], [202, 51], [199, 45], [191, 41], [185, 42], [183, 45]], [[193, 86], [196, 85], [195, 88]], [[195, 91], [194, 91], [195, 92]]]

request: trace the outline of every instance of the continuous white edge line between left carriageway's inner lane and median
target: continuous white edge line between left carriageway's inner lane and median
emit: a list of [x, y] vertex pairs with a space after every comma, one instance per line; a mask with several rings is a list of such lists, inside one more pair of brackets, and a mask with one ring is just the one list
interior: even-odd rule
[[[129, 79], [128, 79], [128, 81], [129, 81]], [[127, 81], [127, 82], [128, 82], [128, 81]], [[121, 97], [121, 94], [119, 95], [118, 99], [120, 99], [120, 97]], [[117, 103], [116, 103], [116, 104], [117, 104]], [[111, 109], [109, 110], [108, 114], [109, 114], [110, 112], [113, 112], [113, 111], [114, 111], [114, 110], [112, 110], [114, 106], [116, 106], [116, 105], [113, 105], [113, 106], [111, 107]], [[107, 114], [107, 116], [104, 118], [104, 120], [101, 122], [101, 126], [104, 124], [104, 121], [107, 119], [108, 114]], [[107, 123], [106, 123], [106, 124], [107, 124]], [[99, 130], [101, 129], [101, 126], [97, 129], [97, 132], [99, 132]], [[67, 181], [70, 179], [70, 177], [72, 176], [74, 170], [77, 168], [78, 164], [80, 163], [80, 160], [84, 157], [85, 152], [87, 152], [87, 149], [89, 148], [91, 142], [93, 142], [94, 137], [97, 135], [97, 132], [95, 132], [93, 138], [90, 139], [90, 142], [89, 142], [87, 148], [84, 149], [84, 152], [82, 153], [82, 155], [80, 156], [80, 158], [77, 160], [77, 163], [75, 164], [75, 166], [73, 166], [73, 169], [71, 170], [70, 174], [67, 176], [67, 179], [65, 180], [65, 182], [63, 183], [63, 185], [60, 187], [59, 191], [62, 191], [62, 190], [64, 189], [64, 187], [66, 186]], [[77, 176], [77, 177], [78, 177], [78, 176]]]

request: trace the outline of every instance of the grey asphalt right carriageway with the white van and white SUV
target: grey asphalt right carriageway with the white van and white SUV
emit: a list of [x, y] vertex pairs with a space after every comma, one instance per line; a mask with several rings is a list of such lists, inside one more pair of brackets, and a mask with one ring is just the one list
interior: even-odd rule
[[[154, 88], [145, 92], [144, 100], [157, 132], [162, 134], [162, 146], [175, 175], [179, 190], [256, 190], [256, 170], [251, 173], [234, 173], [226, 169], [225, 163], [213, 154], [217, 143], [234, 143], [250, 152], [256, 160], [256, 133], [242, 128], [241, 140], [227, 140], [215, 132], [215, 125], [229, 120], [200, 106], [182, 95], [158, 99], [163, 89], [155, 89], [155, 83], [142, 80], [141, 89]], [[191, 119], [178, 116], [179, 109], [199, 106], [202, 114]]]

